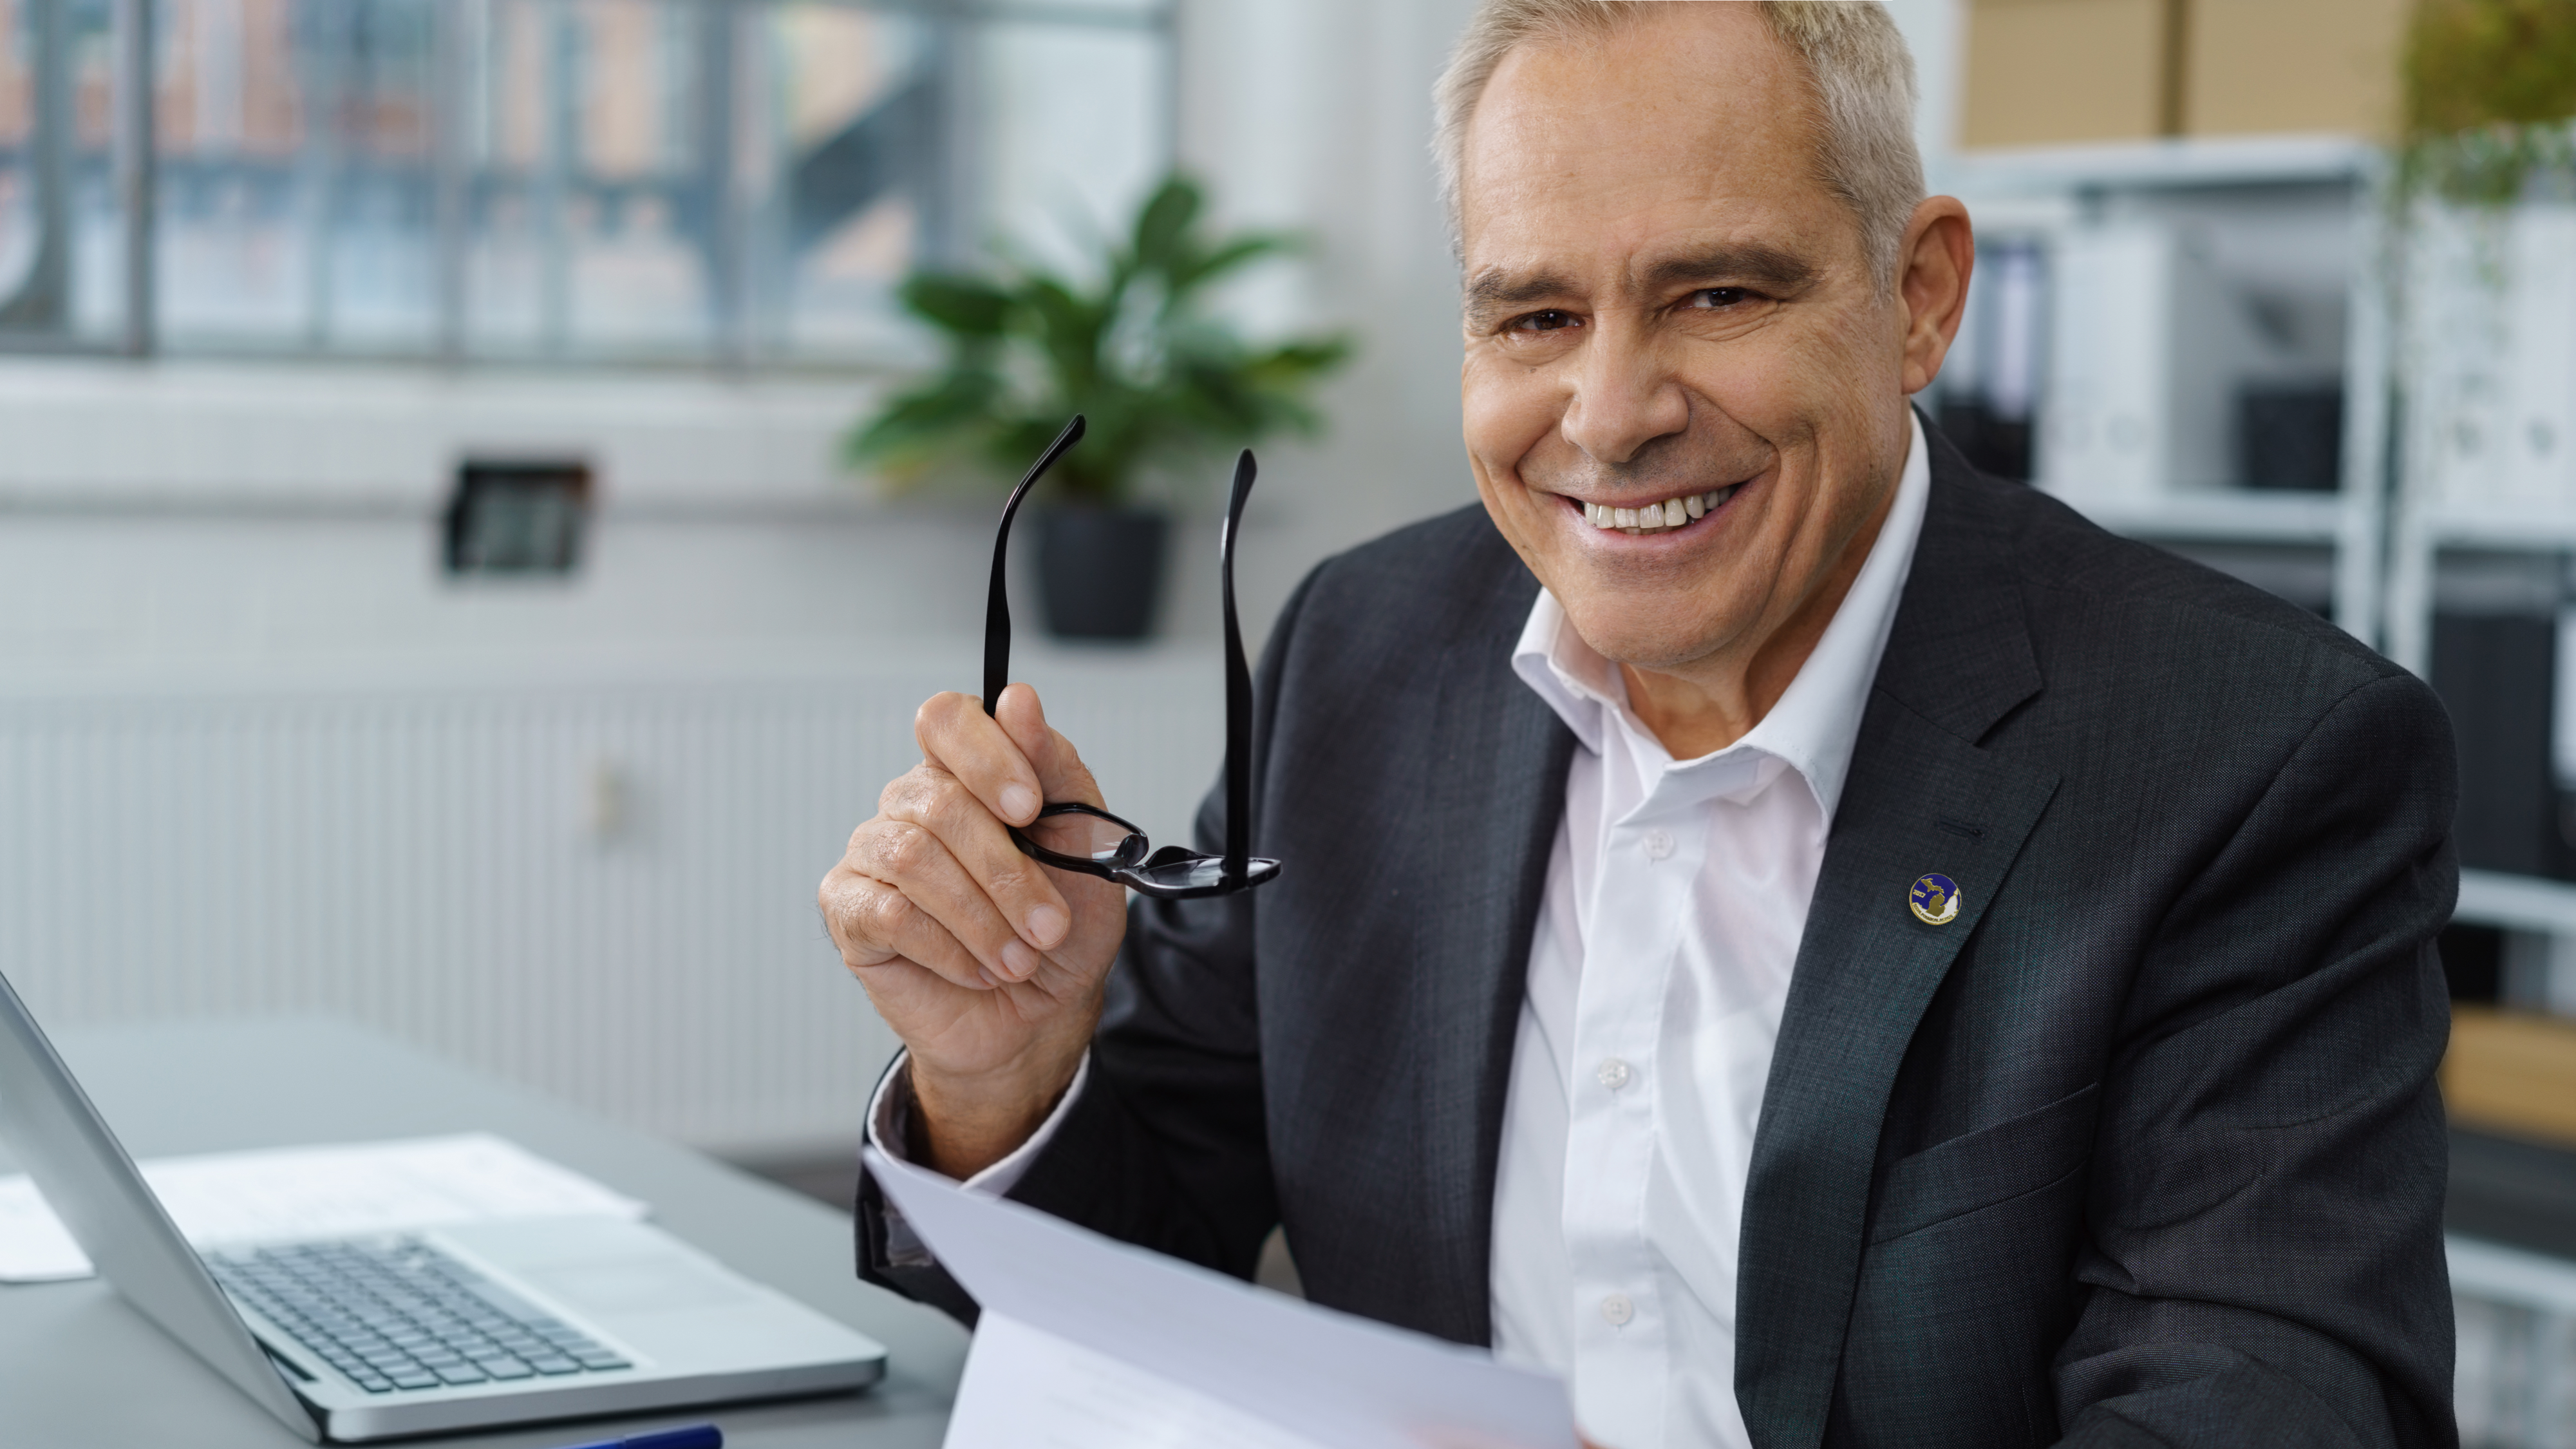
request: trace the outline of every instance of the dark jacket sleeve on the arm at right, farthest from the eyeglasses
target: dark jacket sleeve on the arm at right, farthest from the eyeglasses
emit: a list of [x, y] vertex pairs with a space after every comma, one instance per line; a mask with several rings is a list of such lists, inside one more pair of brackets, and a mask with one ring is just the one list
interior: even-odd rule
[[2105, 1078], [2066, 1444], [2455, 1444], [2434, 1088], [2455, 755], [2336, 701], [2148, 941]]

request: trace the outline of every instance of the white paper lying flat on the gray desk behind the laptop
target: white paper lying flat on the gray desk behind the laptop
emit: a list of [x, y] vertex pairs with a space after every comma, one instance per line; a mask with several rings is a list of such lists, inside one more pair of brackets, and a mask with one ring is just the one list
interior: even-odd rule
[[[137, 1163], [170, 1222], [198, 1248], [412, 1232], [502, 1217], [626, 1217], [647, 1204], [484, 1132], [268, 1147]], [[0, 1176], [0, 1281], [90, 1276], [62, 1220], [26, 1176]]]

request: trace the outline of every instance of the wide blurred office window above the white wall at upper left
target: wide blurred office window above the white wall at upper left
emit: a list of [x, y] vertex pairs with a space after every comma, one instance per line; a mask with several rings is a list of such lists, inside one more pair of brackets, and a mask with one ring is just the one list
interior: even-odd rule
[[886, 358], [912, 266], [1115, 227], [1170, 44], [1164, 0], [0, 0], [0, 348]]

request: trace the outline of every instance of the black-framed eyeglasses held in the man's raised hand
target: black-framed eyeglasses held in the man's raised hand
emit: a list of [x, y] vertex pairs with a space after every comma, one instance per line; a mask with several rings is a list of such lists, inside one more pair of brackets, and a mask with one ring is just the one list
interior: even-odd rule
[[[1082, 415], [1074, 415], [1056, 433], [1056, 441], [1046, 443], [1046, 451], [1030, 464], [1020, 487], [1010, 490], [1010, 503], [1002, 505], [1002, 531], [992, 541], [992, 593], [984, 603], [984, 714], [992, 714], [992, 704], [1002, 699], [1002, 686], [1010, 683], [1010, 598], [1002, 590], [1002, 559], [1010, 557], [1010, 521], [1020, 513], [1020, 500], [1028, 498], [1030, 485], [1046, 477], [1046, 469], [1082, 441]], [[1244, 853], [1252, 833], [1252, 670], [1244, 668], [1244, 634], [1234, 621], [1234, 531], [1244, 521], [1244, 498], [1252, 495], [1252, 449], [1244, 449], [1244, 456], [1234, 462], [1234, 495], [1226, 498], [1226, 531], [1218, 539], [1216, 554], [1218, 588], [1226, 601], [1226, 853], [1200, 856], [1180, 846], [1157, 851], [1136, 825], [1079, 802], [1048, 802], [1038, 810], [1038, 820], [1087, 817], [1092, 822], [1092, 851], [1079, 856], [1048, 851], [1030, 841], [1028, 833], [1012, 830], [1010, 838], [1020, 843], [1020, 853], [1059, 871], [1113, 879], [1133, 892], [1162, 900], [1234, 895], [1278, 879], [1278, 861]]]

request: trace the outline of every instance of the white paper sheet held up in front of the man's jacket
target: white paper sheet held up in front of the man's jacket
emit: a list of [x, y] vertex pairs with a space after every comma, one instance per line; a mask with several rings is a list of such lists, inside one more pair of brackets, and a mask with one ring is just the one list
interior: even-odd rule
[[945, 1449], [1574, 1449], [1561, 1382], [966, 1194], [868, 1150], [984, 1307]]

